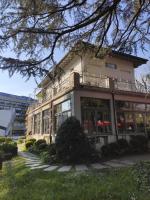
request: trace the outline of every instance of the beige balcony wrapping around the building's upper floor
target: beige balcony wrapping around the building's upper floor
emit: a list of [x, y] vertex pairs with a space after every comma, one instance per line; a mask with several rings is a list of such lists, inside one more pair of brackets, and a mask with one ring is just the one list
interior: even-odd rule
[[125, 80], [117, 80], [107, 77], [102, 74], [89, 74], [84, 72], [71, 73], [63, 80], [57, 80], [56, 83], [52, 84], [51, 90], [46, 92], [45, 89], [41, 90], [41, 99], [30, 106], [29, 110], [33, 110], [39, 107], [41, 104], [46, 103], [52, 99], [55, 99], [65, 93], [73, 90], [74, 88], [79, 88], [80, 86], [94, 88], [110, 89], [111, 91], [126, 91], [126, 92], [137, 92], [137, 93], [148, 93], [150, 88], [145, 88], [143, 84], [138, 81], [130, 82]]

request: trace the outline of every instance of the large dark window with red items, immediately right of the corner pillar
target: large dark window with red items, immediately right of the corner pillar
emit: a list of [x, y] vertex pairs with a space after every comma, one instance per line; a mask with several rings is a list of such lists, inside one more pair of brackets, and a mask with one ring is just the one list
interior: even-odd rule
[[111, 132], [110, 101], [81, 98], [82, 126], [87, 134]]

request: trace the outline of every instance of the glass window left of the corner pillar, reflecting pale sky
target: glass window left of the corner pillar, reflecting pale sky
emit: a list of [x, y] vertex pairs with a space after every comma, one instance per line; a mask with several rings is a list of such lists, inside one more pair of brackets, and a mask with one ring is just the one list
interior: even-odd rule
[[70, 99], [55, 106], [55, 131], [68, 117], [71, 117]]

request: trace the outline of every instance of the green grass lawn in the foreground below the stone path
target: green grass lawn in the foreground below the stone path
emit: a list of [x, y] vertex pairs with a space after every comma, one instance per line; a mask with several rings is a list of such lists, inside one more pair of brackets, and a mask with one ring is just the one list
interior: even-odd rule
[[0, 172], [0, 200], [150, 200], [148, 169], [44, 172], [18, 157]]

